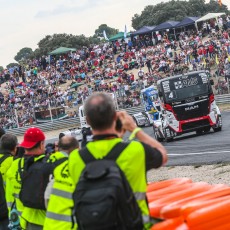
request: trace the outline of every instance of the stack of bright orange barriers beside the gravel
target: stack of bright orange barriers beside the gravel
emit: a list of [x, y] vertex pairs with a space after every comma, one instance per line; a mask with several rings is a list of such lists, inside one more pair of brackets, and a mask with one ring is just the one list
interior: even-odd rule
[[151, 230], [230, 229], [230, 187], [175, 178], [148, 185]]

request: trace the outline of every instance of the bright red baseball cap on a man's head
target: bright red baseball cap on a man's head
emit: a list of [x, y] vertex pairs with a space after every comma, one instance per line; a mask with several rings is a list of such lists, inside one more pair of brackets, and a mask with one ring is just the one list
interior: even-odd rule
[[41, 129], [36, 127], [31, 127], [26, 130], [24, 134], [24, 139], [20, 146], [30, 149], [33, 148], [38, 142], [45, 140], [45, 134]]

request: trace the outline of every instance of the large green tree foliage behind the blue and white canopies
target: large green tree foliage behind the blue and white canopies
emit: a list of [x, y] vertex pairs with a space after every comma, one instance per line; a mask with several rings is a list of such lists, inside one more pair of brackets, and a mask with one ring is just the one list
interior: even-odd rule
[[161, 2], [157, 5], [148, 5], [141, 14], [135, 14], [132, 18], [132, 27], [140, 29], [143, 26], [159, 25], [168, 20], [181, 21], [187, 16], [204, 16], [210, 12], [229, 13], [226, 5], [220, 6], [216, 0], [189, 0]]

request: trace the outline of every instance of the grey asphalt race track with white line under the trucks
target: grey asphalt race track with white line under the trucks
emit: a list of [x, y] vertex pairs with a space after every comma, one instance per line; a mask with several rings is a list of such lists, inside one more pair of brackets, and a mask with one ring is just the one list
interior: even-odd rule
[[[173, 142], [163, 143], [168, 150], [168, 166], [204, 165], [230, 163], [230, 112], [222, 113], [221, 132], [197, 135], [195, 132], [175, 138]], [[144, 131], [153, 136], [152, 127]], [[127, 140], [128, 135], [124, 139]], [[48, 140], [54, 142], [57, 138]]]

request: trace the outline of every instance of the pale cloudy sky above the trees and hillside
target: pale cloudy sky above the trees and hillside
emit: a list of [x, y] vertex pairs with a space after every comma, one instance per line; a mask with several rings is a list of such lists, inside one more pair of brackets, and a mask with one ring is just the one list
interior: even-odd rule
[[[131, 19], [147, 5], [167, 0], [0, 0], [0, 66], [15, 62], [24, 47], [33, 50], [46, 35], [92, 36], [101, 24], [132, 30]], [[230, 0], [222, 0], [230, 6]]]

